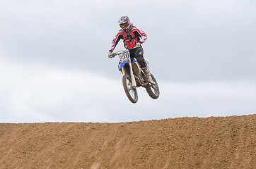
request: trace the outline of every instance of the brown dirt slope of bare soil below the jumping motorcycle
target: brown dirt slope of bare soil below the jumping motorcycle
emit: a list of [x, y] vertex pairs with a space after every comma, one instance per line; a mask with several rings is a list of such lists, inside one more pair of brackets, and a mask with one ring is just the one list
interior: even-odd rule
[[256, 168], [256, 115], [0, 123], [0, 168]]

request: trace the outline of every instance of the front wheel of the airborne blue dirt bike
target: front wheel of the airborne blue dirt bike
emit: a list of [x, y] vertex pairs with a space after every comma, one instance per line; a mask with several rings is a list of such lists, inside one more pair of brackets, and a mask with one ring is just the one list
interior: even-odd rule
[[136, 87], [132, 87], [132, 79], [129, 75], [123, 75], [122, 85], [124, 87], [124, 92], [127, 95], [128, 99], [135, 104], [138, 101], [138, 93]]

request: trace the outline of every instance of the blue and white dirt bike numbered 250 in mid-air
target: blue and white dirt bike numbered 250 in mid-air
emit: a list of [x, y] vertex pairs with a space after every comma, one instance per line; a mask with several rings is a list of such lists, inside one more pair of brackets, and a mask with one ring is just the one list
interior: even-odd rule
[[159, 87], [156, 78], [153, 77], [152, 73], [152, 80], [151, 82], [148, 82], [144, 71], [136, 61], [136, 58], [131, 58], [127, 49], [113, 53], [112, 57], [115, 56], [119, 56], [120, 58], [118, 69], [122, 73], [122, 85], [128, 99], [134, 104], [138, 101], [136, 87], [144, 87], [152, 99], [158, 99], [160, 94]]

